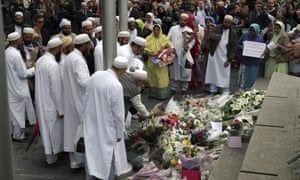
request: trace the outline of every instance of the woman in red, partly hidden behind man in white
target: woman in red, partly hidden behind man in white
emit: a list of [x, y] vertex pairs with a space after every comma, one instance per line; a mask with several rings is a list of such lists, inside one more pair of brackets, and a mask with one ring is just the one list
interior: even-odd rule
[[195, 44], [191, 48], [191, 55], [194, 60], [194, 64], [192, 65], [192, 78], [191, 81], [189, 82], [189, 87], [197, 87], [198, 86], [198, 78], [197, 78], [197, 66], [196, 66], [196, 60], [198, 60], [198, 56], [200, 53], [199, 49], [199, 41], [198, 41], [198, 36], [197, 36], [197, 30], [195, 27], [195, 16], [193, 14], [188, 14], [188, 20], [186, 25], [193, 30], [193, 36], [195, 39]]

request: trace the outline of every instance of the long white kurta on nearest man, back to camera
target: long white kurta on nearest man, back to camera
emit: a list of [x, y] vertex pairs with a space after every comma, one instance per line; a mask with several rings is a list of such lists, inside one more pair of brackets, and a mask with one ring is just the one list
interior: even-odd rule
[[83, 116], [89, 174], [108, 179], [116, 140], [123, 139], [124, 130], [123, 87], [111, 69], [91, 77]]

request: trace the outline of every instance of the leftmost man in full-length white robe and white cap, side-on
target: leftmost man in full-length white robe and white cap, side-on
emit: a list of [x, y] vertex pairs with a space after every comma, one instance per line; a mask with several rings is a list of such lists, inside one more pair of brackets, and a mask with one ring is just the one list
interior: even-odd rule
[[35, 68], [27, 69], [22, 59], [19, 51], [21, 35], [10, 33], [7, 40], [9, 46], [5, 50], [5, 61], [12, 138], [13, 141], [25, 143], [25, 112], [31, 124], [36, 119], [27, 83], [27, 78], [34, 76]]

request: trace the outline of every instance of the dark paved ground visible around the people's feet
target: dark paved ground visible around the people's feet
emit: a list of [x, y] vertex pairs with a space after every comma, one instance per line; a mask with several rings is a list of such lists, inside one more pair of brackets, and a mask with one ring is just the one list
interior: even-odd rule
[[[237, 90], [236, 86], [237, 69], [232, 69], [231, 90]], [[189, 91], [191, 94], [205, 93], [201, 87]], [[160, 101], [149, 99], [147, 90], [143, 93], [143, 102], [148, 108], [152, 108]], [[167, 101], [165, 101], [166, 103]], [[27, 128], [29, 133], [32, 128]], [[26, 144], [13, 143], [13, 165], [14, 178], [16, 180], [83, 180], [84, 170], [72, 172], [69, 168], [68, 155], [62, 153], [59, 156], [59, 164], [56, 167], [48, 168], [45, 166], [45, 158], [40, 138], [37, 138], [28, 152], [25, 152]]]

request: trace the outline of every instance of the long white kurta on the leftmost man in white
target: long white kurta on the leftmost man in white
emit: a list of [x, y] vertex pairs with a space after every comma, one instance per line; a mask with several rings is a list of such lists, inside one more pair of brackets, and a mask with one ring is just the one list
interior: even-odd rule
[[9, 46], [5, 50], [9, 116], [13, 125], [25, 128], [25, 111], [31, 124], [36, 121], [27, 78], [34, 76], [35, 68], [26, 69], [21, 53]]

